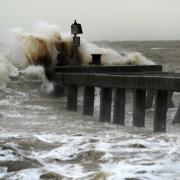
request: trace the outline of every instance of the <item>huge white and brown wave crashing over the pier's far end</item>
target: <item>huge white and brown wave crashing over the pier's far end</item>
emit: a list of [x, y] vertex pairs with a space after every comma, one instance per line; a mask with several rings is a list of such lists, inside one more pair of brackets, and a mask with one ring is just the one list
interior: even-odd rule
[[[48, 86], [44, 67], [53, 67], [57, 63], [58, 54], [63, 55], [65, 61], [71, 61], [72, 58], [72, 37], [67, 33], [60, 33], [58, 26], [46, 22], [37, 23], [31, 33], [24, 32], [21, 28], [11, 29], [1, 39], [1, 86], [6, 86], [11, 78], [18, 76], [36, 76]], [[102, 54], [102, 64], [106, 65], [155, 64], [139, 52], [120, 54], [82, 40], [78, 50], [80, 64], [89, 64], [92, 53]], [[64, 59], [60, 58], [59, 61]]]

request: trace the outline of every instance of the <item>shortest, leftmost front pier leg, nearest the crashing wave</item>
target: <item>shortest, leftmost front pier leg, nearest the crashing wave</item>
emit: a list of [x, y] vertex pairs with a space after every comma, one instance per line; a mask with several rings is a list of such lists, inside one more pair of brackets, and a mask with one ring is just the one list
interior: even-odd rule
[[67, 93], [67, 109], [70, 111], [77, 111], [77, 95], [78, 87], [69, 86]]

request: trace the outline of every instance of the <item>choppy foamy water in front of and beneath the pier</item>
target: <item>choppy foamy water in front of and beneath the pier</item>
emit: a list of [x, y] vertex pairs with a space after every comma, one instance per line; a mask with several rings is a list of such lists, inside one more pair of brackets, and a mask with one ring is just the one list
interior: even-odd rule
[[167, 133], [153, 133], [153, 109], [146, 111], [146, 128], [132, 127], [131, 94], [122, 127], [98, 122], [98, 89], [95, 115], [88, 117], [81, 90], [78, 112], [69, 112], [66, 98], [48, 95], [43, 85], [22, 74], [0, 88], [0, 179], [180, 179], [180, 125], [171, 124], [178, 93]]

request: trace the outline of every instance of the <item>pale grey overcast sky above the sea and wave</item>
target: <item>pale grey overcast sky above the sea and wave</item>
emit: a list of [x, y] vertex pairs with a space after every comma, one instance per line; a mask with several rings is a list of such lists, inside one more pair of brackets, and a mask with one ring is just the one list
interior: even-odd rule
[[180, 0], [0, 0], [0, 29], [38, 21], [69, 31], [74, 19], [89, 40], [180, 40]]

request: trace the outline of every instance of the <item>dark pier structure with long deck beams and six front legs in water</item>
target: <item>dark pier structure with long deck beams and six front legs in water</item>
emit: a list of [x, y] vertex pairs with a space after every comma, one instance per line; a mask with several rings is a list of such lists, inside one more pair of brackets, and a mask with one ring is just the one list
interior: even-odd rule
[[[137, 127], [145, 125], [146, 95], [148, 91], [153, 90], [155, 91], [154, 132], [165, 132], [168, 92], [180, 91], [180, 74], [163, 73], [161, 66], [154, 67], [60, 67], [55, 69], [55, 81], [68, 87], [68, 110], [77, 111], [78, 87], [84, 87], [84, 115], [93, 115], [95, 87], [99, 87], [99, 121], [120, 125], [125, 124], [126, 89], [132, 89], [133, 125]], [[113, 91], [114, 97], [112, 97]], [[112, 101], [114, 102], [111, 120]]]

